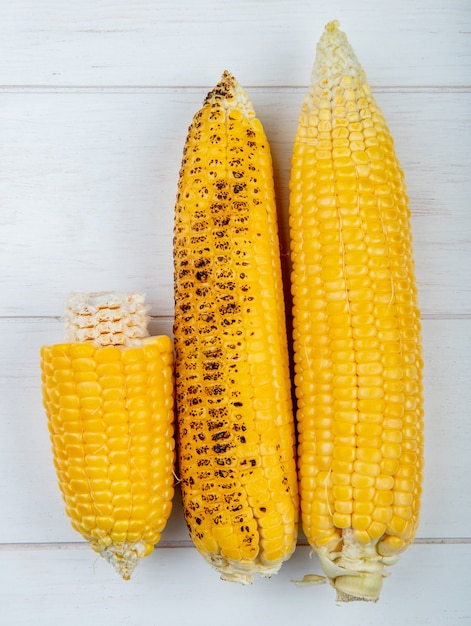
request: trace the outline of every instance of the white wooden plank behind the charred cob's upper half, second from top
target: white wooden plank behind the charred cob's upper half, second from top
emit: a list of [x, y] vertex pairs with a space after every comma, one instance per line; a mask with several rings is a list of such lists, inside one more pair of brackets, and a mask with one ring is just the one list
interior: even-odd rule
[[[204, 89], [0, 94], [0, 315], [61, 315], [70, 291], [147, 292], [173, 307], [172, 225]], [[283, 259], [304, 89], [250, 92], [272, 146]], [[471, 92], [380, 90], [411, 200], [422, 311], [470, 311]], [[444, 115], [443, 111], [447, 111]]]

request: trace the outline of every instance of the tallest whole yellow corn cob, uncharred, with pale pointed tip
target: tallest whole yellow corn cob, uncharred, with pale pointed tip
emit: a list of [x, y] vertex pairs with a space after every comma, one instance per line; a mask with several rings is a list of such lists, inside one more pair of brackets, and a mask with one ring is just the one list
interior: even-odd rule
[[340, 600], [379, 597], [413, 540], [422, 357], [393, 141], [336, 21], [294, 143], [290, 227], [302, 523]]

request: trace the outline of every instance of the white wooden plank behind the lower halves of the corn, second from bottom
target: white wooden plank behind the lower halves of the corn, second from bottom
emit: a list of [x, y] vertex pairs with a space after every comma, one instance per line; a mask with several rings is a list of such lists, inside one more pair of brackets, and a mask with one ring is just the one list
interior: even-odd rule
[[[171, 333], [157, 319], [154, 333]], [[425, 481], [418, 536], [469, 537], [471, 319], [423, 322]], [[0, 319], [0, 517], [2, 542], [78, 541], [63, 510], [41, 404], [39, 347], [62, 341], [58, 320]], [[181, 504], [165, 540], [186, 539]]]

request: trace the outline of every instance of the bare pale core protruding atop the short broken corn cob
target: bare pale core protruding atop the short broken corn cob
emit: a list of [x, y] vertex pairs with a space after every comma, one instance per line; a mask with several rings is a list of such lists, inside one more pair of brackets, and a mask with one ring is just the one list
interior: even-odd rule
[[73, 293], [66, 303], [65, 338], [70, 343], [136, 346], [149, 336], [149, 307], [139, 293]]

